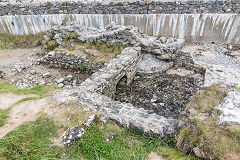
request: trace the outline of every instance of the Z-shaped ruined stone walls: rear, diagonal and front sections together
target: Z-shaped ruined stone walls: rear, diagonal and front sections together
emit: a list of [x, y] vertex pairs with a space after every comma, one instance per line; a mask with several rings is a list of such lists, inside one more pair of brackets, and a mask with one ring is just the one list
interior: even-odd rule
[[[118, 41], [124, 44], [127, 43], [130, 47], [125, 48], [121, 54], [105, 64], [102, 69], [93, 73], [92, 76], [80, 84], [78, 89], [60, 93], [56, 95], [56, 99], [61, 103], [68, 100], [76, 101], [88, 111], [100, 110], [104, 119], [114, 120], [119, 125], [130, 127], [145, 135], [164, 138], [172, 134], [177, 119], [166, 118], [156, 113], [150, 114], [143, 108], [137, 108], [130, 103], [114, 101], [113, 98], [116, 85], [123, 77], [127, 78], [127, 84], [134, 78], [143, 54], [150, 53], [161, 61], [174, 62], [178, 50], [184, 44], [184, 40], [147, 36], [132, 26], [126, 27], [112, 24], [104, 30], [76, 28], [76, 26], [55, 27], [48, 32], [48, 35], [54, 37], [59, 45], [61, 45], [61, 38], [59, 37], [62, 37], [62, 35], [57, 31], [58, 29], [62, 33], [76, 31], [78, 33], [77, 39], [80, 42]], [[181, 56], [184, 56], [184, 54], [181, 53]], [[48, 57], [47, 55], [43, 60], [48, 59]], [[54, 60], [45, 62], [54, 63]], [[67, 61], [66, 64], [68, 63]], [[181, 61], [180, 64], [183, 63], [191, 62]]]

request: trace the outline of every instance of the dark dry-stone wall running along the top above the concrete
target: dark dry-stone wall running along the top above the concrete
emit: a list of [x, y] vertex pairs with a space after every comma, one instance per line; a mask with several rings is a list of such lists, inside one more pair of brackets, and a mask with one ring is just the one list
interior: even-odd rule
[[118, 1], [0, 3], [0, 16], [39, 14], [189, 14], [239, 13], [239, 0], [231, 1]]

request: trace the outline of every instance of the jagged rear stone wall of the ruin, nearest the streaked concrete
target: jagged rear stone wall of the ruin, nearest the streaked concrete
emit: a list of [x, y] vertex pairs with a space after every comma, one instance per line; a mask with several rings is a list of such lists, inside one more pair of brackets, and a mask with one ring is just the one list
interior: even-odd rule
[[77, 25], [54, 26], [47, 32], [45, 42], [49, 40], [49, 37], [53, 37], [58, 45], [62, 46], [65, 35], [74, 32], [77, 33], [77, 40], [82, 43], [119, 42], [123, 45], [141, 47], [143, 52], [155, 54], [162, 60], [171, 60], [173, 54], [181, 49], [185, 42], [184, 39], [148, 36], [133, 26], [121, 26], [114, 23], [109, 24], [103, 30]]

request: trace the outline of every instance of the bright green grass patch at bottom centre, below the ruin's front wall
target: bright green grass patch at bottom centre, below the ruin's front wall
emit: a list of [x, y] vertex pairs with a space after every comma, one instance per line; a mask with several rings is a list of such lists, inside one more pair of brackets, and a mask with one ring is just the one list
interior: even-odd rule
[[[107, 142], [105, 140], [107, 135], [113, 133], [116, 134], [116, 138], [111, 142]], [[142, 160], [146, 159], [150, 152], [157, 152], [170, 160], [196, 159], [195, 157], [184, 155], [173, 146], [172, 138], [169, 141], [163, 141], [157, 138], [146, 137], [109, 122], [103, 130], [99, 125], [90, 127], [79, 141], [67, 148], [66, 153], [67, 159], [83, 157], [89, 160]]]

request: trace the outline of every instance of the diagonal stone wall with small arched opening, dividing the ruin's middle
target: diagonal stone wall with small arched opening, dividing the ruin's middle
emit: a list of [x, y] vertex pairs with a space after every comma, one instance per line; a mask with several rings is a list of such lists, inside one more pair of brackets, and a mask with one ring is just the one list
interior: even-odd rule
[[80, 89], [113, 97], [117, 82], [127, 76], [129, 84], [141, 60], [141, 48], [125, 48], [120, 55], [111, 60], [104, 68], [92, 74], [80, 85]]

